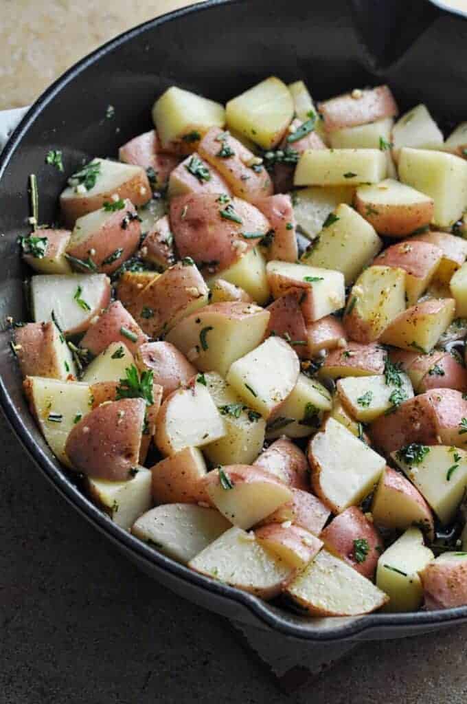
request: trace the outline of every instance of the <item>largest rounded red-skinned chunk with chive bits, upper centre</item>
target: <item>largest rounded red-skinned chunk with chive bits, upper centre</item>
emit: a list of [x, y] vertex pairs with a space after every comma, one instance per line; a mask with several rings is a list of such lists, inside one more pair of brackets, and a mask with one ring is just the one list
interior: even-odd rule
[[179, 255], [193, 258], [200, 268], [209, 265], [210, 274], [231, 267], [270, 230], [269, 221], [251, 203], [238, 198], [226, 203], [217, 194], [172, 199], [170, 222]]

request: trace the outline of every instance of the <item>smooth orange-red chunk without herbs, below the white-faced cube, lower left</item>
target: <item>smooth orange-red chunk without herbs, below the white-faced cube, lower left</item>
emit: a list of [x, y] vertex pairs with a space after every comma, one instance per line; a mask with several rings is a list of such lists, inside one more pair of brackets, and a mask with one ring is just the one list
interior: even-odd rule
[[151, 467], [155, 503], [209, 503], [200, 482], [207, 474], [203, 453], [186, 447]]

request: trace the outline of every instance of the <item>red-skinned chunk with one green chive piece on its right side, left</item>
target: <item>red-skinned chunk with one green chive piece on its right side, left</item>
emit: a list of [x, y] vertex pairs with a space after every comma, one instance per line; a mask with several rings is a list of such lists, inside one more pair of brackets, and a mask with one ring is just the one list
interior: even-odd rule
[[[122, 334], [122, 327], [134, 333], [137, 338], [132, 341]], [[143, 333], [132, 315], [122, 306], [120, 301], [110, 303], [107, 310], [87, 330], [79, 346], [89, 350], [92, 355], [97, 356], [108, 348], [113, 342], [123, 342], [129, 351], [134, 354], [139, 345], [147, 342], [148, 338]]]

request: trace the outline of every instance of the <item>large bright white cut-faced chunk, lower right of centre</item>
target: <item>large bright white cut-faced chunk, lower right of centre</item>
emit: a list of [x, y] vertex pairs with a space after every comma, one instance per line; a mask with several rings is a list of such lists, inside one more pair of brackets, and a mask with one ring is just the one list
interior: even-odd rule
[[333, 418], [312, 439], [308, 458], [314, 490], [333, 513], [358, 505], [385, 467], [383, 457]]

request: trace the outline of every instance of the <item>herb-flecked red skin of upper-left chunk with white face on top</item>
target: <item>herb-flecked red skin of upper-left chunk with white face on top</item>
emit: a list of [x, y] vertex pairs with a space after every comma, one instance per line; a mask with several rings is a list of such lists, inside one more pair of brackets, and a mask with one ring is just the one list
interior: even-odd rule
[[[94, 249], [96, 253], [91, 258], [98, 272], [111, 274], [138, 249], [141, 225], [139, 220], [132, 219], [132, 216], [136, 218], [136, 215], [136, 208], [127, 199], [124, 201], [124, 208], [115, 213], [109, 213], [103, 225], [90, 233], [87, 239], [79, 244], [73, 244], [72, 238], [68, 244], [67, 253], [77, 259], [86, 260], [89, 257], [89, 251]], [[79, 222], [75, 227], [79, 227]], [[120, 257], [110, 264], [104, 264], [105, 258], [113, 254], [116, 249], [123, 250]]]

